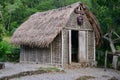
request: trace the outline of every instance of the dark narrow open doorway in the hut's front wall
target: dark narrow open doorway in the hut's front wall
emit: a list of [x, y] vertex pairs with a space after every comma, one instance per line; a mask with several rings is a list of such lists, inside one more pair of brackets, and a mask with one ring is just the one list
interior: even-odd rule
[[78, 62], [78, 31], [71, 31], [72, 62]]

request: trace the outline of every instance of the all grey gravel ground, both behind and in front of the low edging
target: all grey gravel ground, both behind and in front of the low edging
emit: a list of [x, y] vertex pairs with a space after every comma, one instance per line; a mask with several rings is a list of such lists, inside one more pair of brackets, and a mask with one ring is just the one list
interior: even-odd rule
[[[14, 64], [5, 63], [5, 69], [0, 70], [0, 77], [17, 74], [24, 71], [38, 70], [40, 67], [48, 67], [39, 64]], [[51, 66], [49, 66], [51, 67]], [[108, 80], [111, 77], [116, 77], [120, 80], [120, 72], [103, 68], [80, 68], [80, 69], [65, 69], [65, 72], [50, 72], [39, 75], [31, 75], [25, 77], [14, 78], [11, 80], [76, 80], [81, 76], [93, 76], [94, 79], [89, 80]]]

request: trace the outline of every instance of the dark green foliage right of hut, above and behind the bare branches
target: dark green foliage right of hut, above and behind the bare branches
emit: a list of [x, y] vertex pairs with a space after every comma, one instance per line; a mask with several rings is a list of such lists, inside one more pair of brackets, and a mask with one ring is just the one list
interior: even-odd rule
[[[120, 0], [91, 0], [92, 2], [92, 8], [91, 10], [97, 17], [103, 35], [108, 33], [110, 30], [114, 30], [118, 34], [120, 33]], [[112, 36], [112, 38], [115, 38], [115, 36]], [[118, 41], [119, 42], [119, 41]], [[115, 44], [116, 49], [120, 50], [119, 43]], [[103, 66], [104, 65], [104, 56], [105, 51], [108, 50], [111, 51], [109, 42], [107, 40], [103, 40], [103, 44], [101, 48], [99, 48], [99, 51], [97, 50], [96, 55], [98, 65]], [[111, 60], [108, 61], [108, 66], [111, 66]]]

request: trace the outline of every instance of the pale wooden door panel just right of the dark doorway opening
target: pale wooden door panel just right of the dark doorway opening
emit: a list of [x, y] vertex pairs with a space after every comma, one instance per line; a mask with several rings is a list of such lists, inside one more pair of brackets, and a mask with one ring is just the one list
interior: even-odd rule
[[79, 62], [87, 62], [85, 31], [79, 31]]

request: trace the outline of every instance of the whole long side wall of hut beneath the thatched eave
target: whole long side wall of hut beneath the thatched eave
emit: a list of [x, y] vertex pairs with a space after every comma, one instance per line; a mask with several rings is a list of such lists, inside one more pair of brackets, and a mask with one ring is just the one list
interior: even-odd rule
[[61, 65], [61, 47], [61, 33], [56, 36], [56, 38], [48, 48], [21, 46], [20, 62]]

